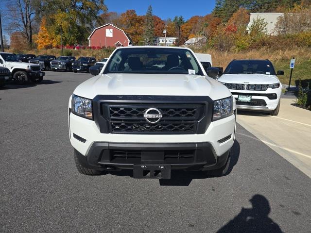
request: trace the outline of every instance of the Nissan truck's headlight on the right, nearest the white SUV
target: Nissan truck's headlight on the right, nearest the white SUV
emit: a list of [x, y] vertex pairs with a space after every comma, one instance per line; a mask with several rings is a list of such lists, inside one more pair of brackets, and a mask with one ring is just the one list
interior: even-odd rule
[[233, 114], [232, 96], [214, 101], [213, 121], [231, 116]]

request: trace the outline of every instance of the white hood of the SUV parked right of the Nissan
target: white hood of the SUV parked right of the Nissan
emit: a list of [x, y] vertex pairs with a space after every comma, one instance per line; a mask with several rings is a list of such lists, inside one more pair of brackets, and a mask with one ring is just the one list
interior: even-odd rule
[[222, 83], [273, 84], [280, 81], [275, 75], [266, 74], [223, 74], [219, 79]]

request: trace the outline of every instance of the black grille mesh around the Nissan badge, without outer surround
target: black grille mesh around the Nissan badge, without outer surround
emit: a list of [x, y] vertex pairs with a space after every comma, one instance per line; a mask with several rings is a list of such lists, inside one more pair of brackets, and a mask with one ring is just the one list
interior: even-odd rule
[[[104, 105], [109, 112], [110, 133], [196, 133], [204, 112], [203, 104]], [[149, 108], [161, 112], [159, 122], [152, 124], [144, 118]]]

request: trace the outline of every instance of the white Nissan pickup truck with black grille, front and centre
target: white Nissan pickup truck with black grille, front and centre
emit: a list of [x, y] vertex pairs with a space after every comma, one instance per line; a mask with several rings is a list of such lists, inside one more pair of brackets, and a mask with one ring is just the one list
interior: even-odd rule
[[[159, 67], [158, 64], [165, 64]], [[171, 169], [228, 171], [236, 106], [230, 91], [190, 49], [124, 47], [69, 99], [69, 136], [86, 175], [132, 169], [134, 178]], [[207, 172], [208, 173], [208, 172]]]

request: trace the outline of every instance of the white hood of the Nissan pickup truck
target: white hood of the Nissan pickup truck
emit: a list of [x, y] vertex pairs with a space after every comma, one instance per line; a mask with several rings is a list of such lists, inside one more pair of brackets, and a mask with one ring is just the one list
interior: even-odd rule
[[97, 95], [209, 96], [212, 100], [231, 96], [222, 83], [188, 74], [100, 74], [81, 83], [73, 94], [88, 99]]

